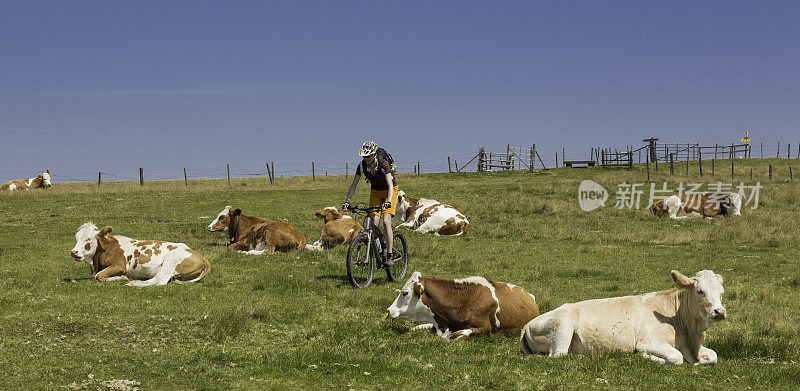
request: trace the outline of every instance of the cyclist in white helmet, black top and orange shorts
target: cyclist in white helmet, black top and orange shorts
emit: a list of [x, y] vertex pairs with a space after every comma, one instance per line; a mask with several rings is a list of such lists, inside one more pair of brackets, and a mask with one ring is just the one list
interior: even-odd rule
[[[394, 265], [394, 254], [392, 251], [393, 236], [392, 236], [392, 217], [394, 217], [395, 208], [397, 207], [397, 181], [394, 179], [394, 168], [392, 167], [392, 157], [383, 148], [378, 148], [378, 144], [374, 141], [367, 141], [361, 145], [358, 151], [361, 156], [361, 163], [356, 168], [356, 174], [353, 176], [353, 183], [350, 185], [350, 190], [347, 191], [347, 198], [342, 204], [342, 209], [347, 210], [350, 207], [350, 198], [356, 191], [358, 181], [361, 179], [361, 174], [370, 184], [369, 193], [369, 206], [382, 206], [383, 212], [372, 211], [372, 224], [378, 227], [378, 217], [383, 218], [383, 225], [386, 227], [386, 254], [384, 256], [384, 264], [386, 266]], [[391, 184], [391, 186], [389, 185]]]

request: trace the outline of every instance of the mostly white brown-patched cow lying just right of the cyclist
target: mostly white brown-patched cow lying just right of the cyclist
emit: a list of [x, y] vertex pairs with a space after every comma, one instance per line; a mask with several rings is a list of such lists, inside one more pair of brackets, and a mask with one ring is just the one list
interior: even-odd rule
[[403, 221], [397, 227], [411, 228], [434, 235], [461, 235], [469, 230], [469, 221], [450, 205], [436, 200], [409, 197], [400, 190], [395, 218]]

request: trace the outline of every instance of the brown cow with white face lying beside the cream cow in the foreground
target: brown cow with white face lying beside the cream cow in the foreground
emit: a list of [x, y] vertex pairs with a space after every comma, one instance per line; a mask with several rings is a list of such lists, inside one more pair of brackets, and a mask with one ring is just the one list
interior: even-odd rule
[[536, 298], [522, 287], [483, 277], [455, 280], [414, 272], [386, 316], [423, 324], [444, 338], [501, 332], [514, 334], [539, 316]]

